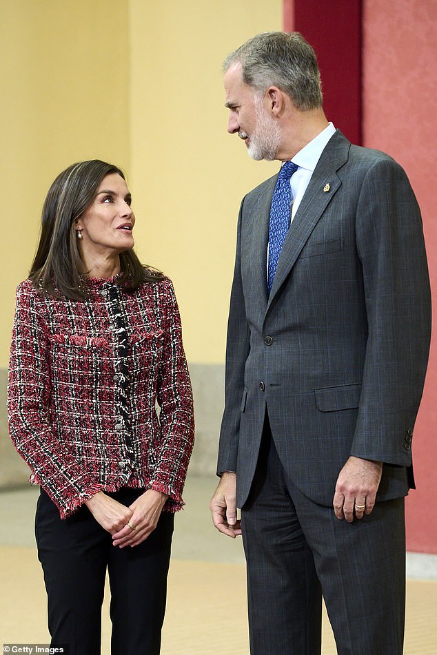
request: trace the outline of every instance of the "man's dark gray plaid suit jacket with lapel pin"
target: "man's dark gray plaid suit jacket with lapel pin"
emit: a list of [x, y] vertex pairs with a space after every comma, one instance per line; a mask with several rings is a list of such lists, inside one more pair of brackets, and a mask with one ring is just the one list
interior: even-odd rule
[[379, 500], [406, 495], [431, 305], [414, 193], [392, 158], [337, 131], [267, 298], [276, 178], [241, 203], [217, 472], [236, 471], [243, 506], [267, 406], [283, 466], [310, 499], [332, 504], [349, 455], [385, 463]]

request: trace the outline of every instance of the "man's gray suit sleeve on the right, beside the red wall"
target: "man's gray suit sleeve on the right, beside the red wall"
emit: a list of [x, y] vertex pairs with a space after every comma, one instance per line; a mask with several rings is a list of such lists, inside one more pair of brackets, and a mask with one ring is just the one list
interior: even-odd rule
[[368, 338], [351, 455], [411, 464], [411, 437], [423, 392], [431, 297], [420, 210], [403, 169], [379, 159], [367, 172], [356, 211]]

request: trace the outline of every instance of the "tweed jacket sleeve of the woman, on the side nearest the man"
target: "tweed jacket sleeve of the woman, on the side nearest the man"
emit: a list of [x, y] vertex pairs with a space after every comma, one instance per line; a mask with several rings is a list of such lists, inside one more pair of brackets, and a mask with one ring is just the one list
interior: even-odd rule
[[167, 508], [176, 511], [183, 506], [182, 491], [194, 444], [194, 412], [181, 318], [171, 282], [167, 282], [167, 290], [163, 306], [163, 357], [156, 395], [161, 408], [161, 443], [149, 486], [170, 496]]

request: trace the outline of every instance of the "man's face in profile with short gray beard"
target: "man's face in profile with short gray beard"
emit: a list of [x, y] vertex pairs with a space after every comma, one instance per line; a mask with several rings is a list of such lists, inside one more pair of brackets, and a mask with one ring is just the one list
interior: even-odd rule
[[233, 64], [223, 77], [226, 103], [230, 110], [227, 132], [237, 133], [245, 141], [252, 159], [276, 158], [281, 142], [281, 128], [267, 113], [263, 97], [254, 94], [252, 87], [243, 82], [241, 65]]

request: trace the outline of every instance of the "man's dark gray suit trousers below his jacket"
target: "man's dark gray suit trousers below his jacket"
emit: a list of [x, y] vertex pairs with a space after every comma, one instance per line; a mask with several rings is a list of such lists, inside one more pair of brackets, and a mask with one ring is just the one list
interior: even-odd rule
[[338, 521], [289, 479], [266, 417], [241, 520], [252, 655], [320, 655], [322, 594], [338, 655], [402, 655], [403, 498]]

